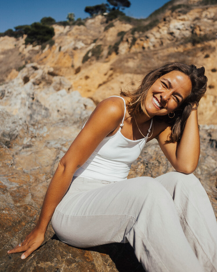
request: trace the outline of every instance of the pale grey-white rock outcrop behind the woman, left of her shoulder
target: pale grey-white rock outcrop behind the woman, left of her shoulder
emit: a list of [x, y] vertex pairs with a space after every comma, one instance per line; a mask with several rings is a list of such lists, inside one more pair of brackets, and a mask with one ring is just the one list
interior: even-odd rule
[[30, 126], [50, 123], [51, 114], [52, 122], [70, 118], [71, 124], [81, 126], [95, 107], [91, 99], [72, 91], [66, 78], [37, 63], [26, 65], [15, 79], [1, 85], [0, 98], [0, 109]]

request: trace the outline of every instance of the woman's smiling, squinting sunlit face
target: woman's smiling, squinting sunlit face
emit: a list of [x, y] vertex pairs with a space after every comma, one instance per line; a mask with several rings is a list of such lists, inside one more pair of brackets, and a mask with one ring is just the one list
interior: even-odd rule
[[149, 116], [166, 115], [176, 110], [191, 92], [191, 80], [180, 71], [158, 78], [149, 88], [145, 109]]

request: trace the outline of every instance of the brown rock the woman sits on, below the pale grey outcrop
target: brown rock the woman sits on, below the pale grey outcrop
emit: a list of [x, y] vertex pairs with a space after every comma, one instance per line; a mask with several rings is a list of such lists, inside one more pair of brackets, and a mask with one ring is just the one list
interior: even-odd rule
[[[67, 95], [67, 92], [62, 91], [62, 94]], [[74, 248], [59, 241], [50, 225], [43, 245], [26, 260], [20, 259], [21, 253], [6, 254], [35, 225], [57, 163], [79, 132], [76, 125], [68, 126], [67, 122], [66, 119], [56, 122], [55, 127], [48, 126], [47, 130], [30, 127], [35, 132], [29, 130], [18, 135], [10, 148], [2, 148], [0, 152], [1, 270], [144, 271], [129, 244]], [[217, 127], [201, 126], [200, 139], [201, 154], [195, 175], [206, 189], [217, 216]], [[132, 164], [128, 178], [155, 177], [172, 170], [157, 141], [153, 140], [146, 144], [138, 160]]]

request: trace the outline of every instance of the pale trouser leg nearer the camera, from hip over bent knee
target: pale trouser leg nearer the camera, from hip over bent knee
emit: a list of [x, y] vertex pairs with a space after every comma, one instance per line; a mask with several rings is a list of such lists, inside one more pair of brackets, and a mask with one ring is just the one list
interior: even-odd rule
[[146, 271], [204, 271], [170, 194], [153, 178], [68, 193], [51, 222], [60, 240], [77, 247], [129, 241]]

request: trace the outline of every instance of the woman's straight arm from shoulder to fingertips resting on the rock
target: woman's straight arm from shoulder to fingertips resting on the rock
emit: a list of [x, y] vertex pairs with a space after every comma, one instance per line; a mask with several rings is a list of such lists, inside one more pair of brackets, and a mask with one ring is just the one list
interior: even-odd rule
[[123, 116], [122, 99], [111, 97], [97, 105], [84, 128], [60, 160], [48, 186], [35, 228], [21, 242], [21, 246], [17, 245], [8, 253], [25, 251], [21, 256], [25, 259], [42, 244], [53, 212], [66, 193], [76, 169], [86, 162], [102, 139], [118, 127]]

